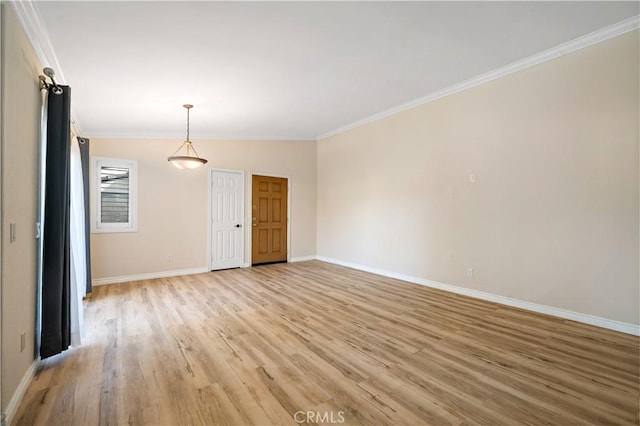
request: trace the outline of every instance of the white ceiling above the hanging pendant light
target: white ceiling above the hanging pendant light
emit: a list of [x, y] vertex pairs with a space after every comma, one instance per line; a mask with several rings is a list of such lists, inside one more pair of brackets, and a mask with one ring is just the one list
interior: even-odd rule
[[[637, 2], [38, 2], [88, 137], [316, 139]], [[53, 64], [50, 64], [53, 65]]]

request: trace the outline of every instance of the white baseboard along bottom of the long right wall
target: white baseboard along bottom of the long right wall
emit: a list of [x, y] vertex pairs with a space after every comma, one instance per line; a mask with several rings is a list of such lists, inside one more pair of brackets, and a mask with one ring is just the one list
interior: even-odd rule
[[541, 314], [552, 315], [584, 324], [595, 325], [596, 327], [606, 328], [609, 330], [619, 331], [621, 333], [640, 336], [640, 325], [630, 324], [621, 321], [615, 321], [607, 318], [597, 317], [594, 315], [583, 314], [580, 312], [569, 311], [567, 309], [556, 308], [538, 303], [526, 302], [524, 300], [514, 299], [511, 297], [500, 296], [497, 294], [486, 293], [484, 291], [472, 290], [469, 288], [458, 287], [451, 284], [444, 284], [437, 281], [431, 281], [424, 278], [413, 277], [410, 275], [398, 274], [383, 269], [372, 268], [370, 266], [359, 265], [351, 262], [344, 262], [330, 257], [317, 256], [318, 260], [333, 263], [336, 265], [346, 266], [348, 268], [358, 269], [360, 271], [371, 272], [376, 275], [382, 275], [389, 278], [395, 278], [402, 281], [408, 281], [414, 284], [420, 284], [426, 287], [436, 288], [451, 293], [461, 294], [476, 299], [487, 300], [489, 302], [500, 303], [501, 305], [513, 306], [515, 308], [526, 309], [528, 311], [538, 312]]

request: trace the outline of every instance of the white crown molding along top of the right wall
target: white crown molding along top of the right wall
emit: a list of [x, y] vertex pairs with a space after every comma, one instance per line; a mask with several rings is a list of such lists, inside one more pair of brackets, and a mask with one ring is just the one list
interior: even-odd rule
[[610, 25], [608, 27], [602, 28], [600, 30], [594, 31], [592, 33], [589, 33], [584, 36], [573, 39], [571, 41], [568, 41], [566, 43], [544, 50], [540, 53], [536, 53], [535, 55], [529, 56], [528, 58], [521, 59], [516, 62], [512, 62], [503, 67], [496, 68], [492, 71], [488, 71], [486, 73], [480, 74], [476, 77], [472, 77], [468, 80], [462, 81], [452, 86], [445, 87], [444, 89], [437, 90], [421, 98], [414, 99], [407, 103], [384, 110], [372, 116], [355, 121], [351, 124], [346, 124], [335, 130], [319, 135], [317, 137], [317, 140], [320, 141], [322, 139], [326, 139], [328, 137], [335, 136], [340, 133], [344, 133], [348, 130], [352, 130], [357, 127], [364, 126], [365, 124], [371, 123], [373, 121], [377, 121], [382, 118], [389, 117], [390, 115], [394, 115], [399, 112], [406, 111], [408, 109], [415, 108], [417, 106], [424, 105], [429, 102], [433, 102], [436, 99], [440, 99], [445, 96], [449, 96], [454, 93], [461, 92], [463, 90], [467, 90], [475, 86], [479, 86], [489, 81], [496, 80], [498, 78], [516, 73], [518, 71], [522, 71], [526, 68], [533, 67], [535, 65], [550, 61], [560, 56], [568, 55], [569, 53], [573, 53], [577, 50], [584, 49], [585, 47], [589, 47], [591, 45], [601, 43], [610, 38], [633, 31], [635, 29], [638, 29], [638, 27], [640, 27], [640, 15], [625, 19], [624, 21], [620, 21], [617, 24]]

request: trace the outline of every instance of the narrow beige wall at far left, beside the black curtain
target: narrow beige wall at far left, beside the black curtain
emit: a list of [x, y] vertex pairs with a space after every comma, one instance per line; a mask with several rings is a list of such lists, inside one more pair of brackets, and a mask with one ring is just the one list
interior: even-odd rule
[[[35, 359], [38, 131], [42, 67], [2, 4], [2, 410]], [[9, 224], [16, 241], [9, 243]], [[20, 351], [20, 333], [26, 348]]]

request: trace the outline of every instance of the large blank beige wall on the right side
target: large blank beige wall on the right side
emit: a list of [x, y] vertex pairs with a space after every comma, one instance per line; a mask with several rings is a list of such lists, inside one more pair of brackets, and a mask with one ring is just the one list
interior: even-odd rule
[[634, 31], [320, 141], [318, 254], [638, 324], [638, 76]]

